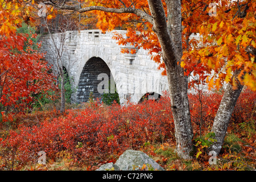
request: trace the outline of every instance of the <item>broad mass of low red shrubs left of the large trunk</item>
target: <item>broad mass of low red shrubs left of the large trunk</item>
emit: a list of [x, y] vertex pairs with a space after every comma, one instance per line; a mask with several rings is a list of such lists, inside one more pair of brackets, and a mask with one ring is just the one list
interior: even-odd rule
[[57, 152], [63, 150], [77, 159], [101, 156], [104, 160], [130, 147], [138, 149], [148, 141], [174, 140], [167, 102], [170, 101], [163, 99], [127, 107], [94, 105], [84, 110], [71, 110], [65, 117], [46, 119], [40, 125], [20, 126], [0, 145], [15, 148], [15, 159], [19, 163], [36, 162], [39, 151], [45, 151], [48, 159], [55, 159]]

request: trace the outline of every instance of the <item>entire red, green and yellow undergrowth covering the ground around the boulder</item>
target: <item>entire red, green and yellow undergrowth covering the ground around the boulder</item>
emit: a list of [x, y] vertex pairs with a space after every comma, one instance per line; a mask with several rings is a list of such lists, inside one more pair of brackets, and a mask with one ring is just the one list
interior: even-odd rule
[[[189, 98], [195, 136], [192, 160], [176, 155], [170, 98], [163, 96], [137, 105], [90, 102], [69, 105], [65, 114], [44, 110], [16, 115], [14, 121], [0, 123], [0, 169], [95, 170], [115, 163], [127, 149], [145, 152], [166, 170], [255, 169], [255, 93], [241, 93], [216, 164], [209, 164], [208, 147], [221, 95], [204, 97], [201, 118], [196, 117], [199, 102]], [[46, 164], [38, 163], [39, 151], [46, 152]]]

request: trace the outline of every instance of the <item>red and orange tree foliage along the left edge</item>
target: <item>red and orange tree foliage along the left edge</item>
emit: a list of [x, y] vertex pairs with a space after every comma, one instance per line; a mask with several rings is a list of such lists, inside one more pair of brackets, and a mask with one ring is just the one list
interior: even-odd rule
[[[22, 22], [18, 3], [1, 2], [0, 9], [0, 109], [5, 121], [15, 113], [30, 110], [37, 94], [47, 93], [55, 85], [43, 53], [35, 49], [40, 44], [28, 39], [28, 34], [16, 32]], [[36, 36], [31, 34], [32, 38]]]

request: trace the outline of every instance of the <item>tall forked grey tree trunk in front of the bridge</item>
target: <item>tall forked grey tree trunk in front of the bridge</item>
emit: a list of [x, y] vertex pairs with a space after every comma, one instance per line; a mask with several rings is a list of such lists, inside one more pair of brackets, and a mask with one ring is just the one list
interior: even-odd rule
[[174, 116], [177, 155], [192, 159], [192, 125], [188, 105], [187, 84], [183, 68], [177, 65], [182, 56], [181, 42], [181, 2], [167, 1], [168, 25], [162, 1], [148, 0], [154, 19], [153, 30], [162, 47]]

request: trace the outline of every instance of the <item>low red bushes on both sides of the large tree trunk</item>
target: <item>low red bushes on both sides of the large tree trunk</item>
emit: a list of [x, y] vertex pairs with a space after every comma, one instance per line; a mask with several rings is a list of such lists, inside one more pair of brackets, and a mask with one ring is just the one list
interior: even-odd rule
[[[243, 122], [252, 116], [255, 93], [241, 94], [233, 113], [234, 119]], [[205, 95], [203, 98], [204, 127], [210, 128], [217, 113], [221, 95]], [[198, 132], [199, 102], [189, 96], [194, 132]], [[144, 143], [174, 142], [174, 122], [170, 100], [162, 97], [159, 102], [146, 101], [142, 104], [122, 107], [101, 106], [95, 103], [83, 110], [69, 110], [59, 118], [45, 119], [33, 126], [19, 126], [11, 130], [8, 137], [0, 140], [0, 162], [7, 155], [16, 164], [35, 163], [38, 152], [45, 151], [47, 159], [55, 160], [57, 153], [68, 151], [80, 161], [93, 161], [111, 154], [119, 155], [127, 148], [138, 149]], [[254, 115], [255, 117], [255, 115]], [[5, 158], [5, 161], [7, 159]], [[2, 163], [0, 169], [7, 164]], [[18, 165], [16, 165], [18, 168]]]

